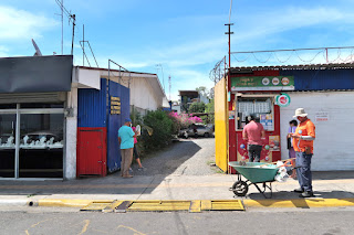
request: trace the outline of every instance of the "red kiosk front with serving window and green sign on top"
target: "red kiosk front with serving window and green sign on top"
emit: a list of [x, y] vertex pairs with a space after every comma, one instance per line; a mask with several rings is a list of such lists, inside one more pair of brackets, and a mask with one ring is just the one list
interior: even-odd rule
[[242, 130], [249, 117], [262, 124], [266, 139], [262, 145], [261, 162], [281, 159], [280, 153], [280, 106], [290, 104], [290, 97], [282, 90], [294, 89], [292, 76], [241, 76], [231, 77], [232, 110], [236, 132], [236, 161], [249, 161], [247, 141]]

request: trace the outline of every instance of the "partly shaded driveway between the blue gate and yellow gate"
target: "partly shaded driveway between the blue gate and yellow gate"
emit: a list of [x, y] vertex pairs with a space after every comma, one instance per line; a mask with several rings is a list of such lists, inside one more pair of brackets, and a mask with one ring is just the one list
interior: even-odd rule
[[179, 174], [210, 175], [217, 172], [209, 167], [215, 162], [215, 138], [181, 139], [168, 149], [142, 159], [146, 171], [133, 165], [135, 175]]

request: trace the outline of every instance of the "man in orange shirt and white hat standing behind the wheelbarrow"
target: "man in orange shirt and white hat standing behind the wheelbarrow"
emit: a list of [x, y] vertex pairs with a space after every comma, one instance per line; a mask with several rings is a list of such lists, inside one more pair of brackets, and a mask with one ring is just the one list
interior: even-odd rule
[[295, 110], [294, 118], [300, 121], [294, 133], [292, 145], [296, 153], [296, 175], [300, 188], [294, 192], [301, 193], [300, 197], [313, 196], [311, 159], [313, 156], [313, 140], [315, 139], [315, 126], [308, 118], [308, 114], [303, 108]]

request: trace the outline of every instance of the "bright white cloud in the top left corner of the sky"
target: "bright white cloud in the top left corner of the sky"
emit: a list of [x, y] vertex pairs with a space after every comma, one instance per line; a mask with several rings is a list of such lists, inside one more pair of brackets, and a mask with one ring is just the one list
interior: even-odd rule
[[40, 38], [42, 31], [58, 24], [44, 15], [0, 6], [0, 40]]

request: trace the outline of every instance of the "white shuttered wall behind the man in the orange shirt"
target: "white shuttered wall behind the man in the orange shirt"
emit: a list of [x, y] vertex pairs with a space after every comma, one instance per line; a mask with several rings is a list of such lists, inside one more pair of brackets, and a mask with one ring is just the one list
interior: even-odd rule
[[[288, 93], [291, 103], [280, 108], [282, 159], [288, 159], [287, 132], [296, 108], [304, 108], [316, 127], [312, 170], [354, 170], [354, 92]], [[320, 111], [327, 121], [316, 121]]]

